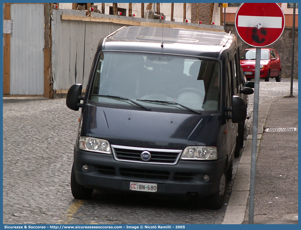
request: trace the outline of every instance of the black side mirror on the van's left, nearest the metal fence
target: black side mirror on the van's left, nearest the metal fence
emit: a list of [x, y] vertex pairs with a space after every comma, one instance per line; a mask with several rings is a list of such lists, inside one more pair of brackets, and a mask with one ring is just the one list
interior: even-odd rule
[[77, 111], [79, 110], [79, 107], [82, 107], [80, 100], [83, 99], [84, 97], [82, 96], [82, 85], [72, 85], [67, 93], [66, 105], [69, 109]]

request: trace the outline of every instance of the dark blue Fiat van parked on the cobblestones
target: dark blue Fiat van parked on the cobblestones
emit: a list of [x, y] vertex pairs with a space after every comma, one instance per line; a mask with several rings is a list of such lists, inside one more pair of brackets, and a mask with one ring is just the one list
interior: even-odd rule
[[75, 198], [94, 189], [196, 195], [222, 206], [232, 177], [241, 94], [231, 33], [125, 26], [101, 39], [82, 108], [71, 173]]

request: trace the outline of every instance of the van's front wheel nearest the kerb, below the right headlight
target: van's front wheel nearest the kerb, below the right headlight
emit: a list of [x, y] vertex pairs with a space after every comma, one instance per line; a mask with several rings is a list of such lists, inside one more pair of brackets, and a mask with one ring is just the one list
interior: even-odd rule
[[218, 191], [215, 194], [206, 198], [206, 206], [209, 209], [220, 209], [223, 206], [226, 191], [226, 181], [226, 174], [225, 171], [223, 171], [219, 181]]

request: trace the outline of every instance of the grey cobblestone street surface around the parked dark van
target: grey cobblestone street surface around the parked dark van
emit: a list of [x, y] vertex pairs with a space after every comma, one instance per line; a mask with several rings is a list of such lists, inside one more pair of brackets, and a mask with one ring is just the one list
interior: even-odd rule
[[[259, 88], [260, 104], [288, 95], [290, 79], [261, 80]], [[298, 80], [293, 82], [293, 94], [298, 94]], [[245, 136], [250, 132], [252, 111], [253, 95], [249, 96]], [[146, 201], [100, 193], [89, 201], [74, 200], [70, 172], [79, 116], [80, 110], [67, 108], [65, 98], [3, 98], [4, 224], [221, 223], [223, 208], [192, 208], [178, 200]]]

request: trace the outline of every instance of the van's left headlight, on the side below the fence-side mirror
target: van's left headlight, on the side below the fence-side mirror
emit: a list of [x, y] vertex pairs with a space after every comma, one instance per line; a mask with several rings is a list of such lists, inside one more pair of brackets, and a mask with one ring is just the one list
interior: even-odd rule
[[79, 138], [78, 148], [85, 151], [111, 154], [111, 148], [108, 141], [93, 137], [81, 136]]

